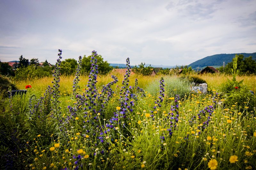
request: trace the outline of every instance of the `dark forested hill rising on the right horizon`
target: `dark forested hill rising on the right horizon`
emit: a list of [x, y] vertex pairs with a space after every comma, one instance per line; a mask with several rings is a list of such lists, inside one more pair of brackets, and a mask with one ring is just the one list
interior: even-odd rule
[[[237, 53], [237, 55], [242, 54], [244, 58], [252, 56], [252, 59], [256, 61], [256, 52], [255, 53]], [[211, 56], [204, 57], [200, 60], [195, 61], [188, 65], [188, 67], [192, 67], [193, 69], [204, 68], [206, 66], [222, 66], [223, 62], [228, 64], [232, 62], [232, 59], [236, 54], [215, 54]]]

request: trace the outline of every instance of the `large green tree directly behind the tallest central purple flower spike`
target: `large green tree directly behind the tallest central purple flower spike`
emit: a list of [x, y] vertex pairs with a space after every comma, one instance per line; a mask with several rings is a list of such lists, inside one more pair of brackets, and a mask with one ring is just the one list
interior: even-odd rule
[[[111, 71], [113, 69], [112, 66], [110, 66], [110, 64], [107, 61], [103, 60], [103, 57], [101, 55], [97, 55], [95, 56], [97, 59], [97, 65], [98, 65], [98, 71], [99, 74], [107, 74], [109, 71]], [[82, 59], [82, 72], [84, 74], [89, 74], [91, 71], [91, 55], [90, 56], [85, 56]]]

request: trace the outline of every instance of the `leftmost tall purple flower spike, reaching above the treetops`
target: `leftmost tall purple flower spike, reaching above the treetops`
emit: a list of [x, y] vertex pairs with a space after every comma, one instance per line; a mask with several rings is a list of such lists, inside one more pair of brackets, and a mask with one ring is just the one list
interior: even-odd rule
[[60, 91], [59, 91], [59, 88], [60, 88], [60, 59], [62, 58], [61, 57], [61, 54], [62, 54], [62, 50], [59, 49], [59, 58], [57, 59], [57, 62], [56, 64], [54, 65], [54, 72], [53, 72], [53, 81], [52, 81], [52, 105], [53, 105], [53, 116], [56, 117], [57, 121], [58, 121], [58, 126], [60, 128], [60, 125], [62, 123], [62, 120], [60, 119], [61, 116], [61, 111], [60, 111]]

